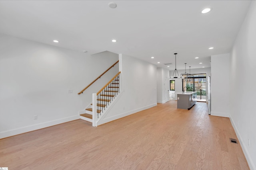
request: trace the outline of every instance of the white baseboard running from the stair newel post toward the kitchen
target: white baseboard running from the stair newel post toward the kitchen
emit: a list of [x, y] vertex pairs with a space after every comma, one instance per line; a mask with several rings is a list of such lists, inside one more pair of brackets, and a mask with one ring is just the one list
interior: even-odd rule
[[104, 119], [102, 119], [101, 121], [99, 121], [99, 122], [97, 123], [97, 125], [102, 125], [102, 124], [104, 124], [104, 123], [108, 123], [108, 122], [110, 122], [110, 121], [114, 121], [114, 120], [116, 120], [116, 119], [120, 119], [120, 118], [126, 117], [126, 116], [128, 116], [128, 115], [132, 115], [132, 114], [134, 114], [134, 113], [137, 113], [137, 112], [142, 111], [142, 110], [145, 110], [145, 109], [149, 109], [149, 108], [154, 107], [154, 106], [157, 106], [157, 103], [154, 103], [154, 104], [151, 104], [151, 105], [148, 105], [148, 106], [144, 106], [144, 107], [140, 107], [140, 108], [134, 109], [134, 110], [132, 110], [132, 111], [127, 111], [127, 112], [125, 112], [125, 113], [120, 113], [120, 114], [118, 114], [118, 115], [114, 115], [114, 116], [111, 116], [111, 117], [104, 117]]

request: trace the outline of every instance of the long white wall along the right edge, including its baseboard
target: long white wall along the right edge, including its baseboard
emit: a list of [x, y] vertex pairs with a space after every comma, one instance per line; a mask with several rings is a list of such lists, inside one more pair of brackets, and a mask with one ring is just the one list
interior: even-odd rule
[[252, 1], [230, 54], [230, 119], [251, 170], [256, 170], [255, 73], [256, 1]]

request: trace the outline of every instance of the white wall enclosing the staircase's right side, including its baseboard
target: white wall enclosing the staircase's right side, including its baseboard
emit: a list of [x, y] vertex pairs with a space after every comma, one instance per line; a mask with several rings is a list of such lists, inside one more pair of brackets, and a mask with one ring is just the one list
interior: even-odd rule
[[156, 65], [123, 54], [119, 61], [120, 94], [98, 125], [157, 105]]

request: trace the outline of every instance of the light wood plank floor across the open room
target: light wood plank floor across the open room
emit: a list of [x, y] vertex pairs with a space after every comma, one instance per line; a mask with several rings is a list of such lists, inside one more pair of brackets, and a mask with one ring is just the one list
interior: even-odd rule
[[249, 169], [229, 118], [207, 104], [176, 101], [99, 127], [81, 119], [0, 140], [0, 167], [10, 170]]

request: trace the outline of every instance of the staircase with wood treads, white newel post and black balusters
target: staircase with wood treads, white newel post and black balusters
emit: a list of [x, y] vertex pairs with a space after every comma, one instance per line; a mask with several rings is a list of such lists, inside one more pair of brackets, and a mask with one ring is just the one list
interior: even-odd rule
[[92, 94], [93, 101], [85, 109], [85, 113], [80, 114], [80, 119], [92, 122], [93, 126], [97, 126], [97, 121], [119, 94], [119, 77], [120, 72], [118, 72], [118, 74], [116, 74], [116, 76], [114, 76], [97, 94]]

